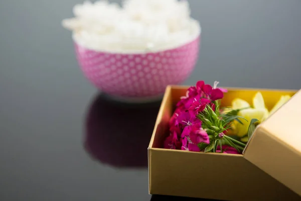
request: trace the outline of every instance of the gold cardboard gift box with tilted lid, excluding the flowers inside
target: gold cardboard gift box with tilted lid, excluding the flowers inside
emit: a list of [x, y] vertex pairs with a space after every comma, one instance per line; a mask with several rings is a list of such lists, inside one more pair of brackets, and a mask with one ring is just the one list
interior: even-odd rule
[[164, 149], [169, 120], [188, 86], [168, 86], [148, 147], [150, 194], [219, 200], [301, 200], [301, 91], [227, 88], [222, 106], [260, 91], [268, 109], [292, 97], [254, 131], [243, 154]]

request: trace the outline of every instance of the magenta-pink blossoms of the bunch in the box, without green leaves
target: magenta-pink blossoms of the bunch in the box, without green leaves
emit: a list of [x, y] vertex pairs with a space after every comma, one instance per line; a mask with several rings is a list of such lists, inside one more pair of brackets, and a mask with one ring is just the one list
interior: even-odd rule
[[196, 116], [208, 104], [215, 111], [213, 101], [221, 99], [224, 96], [223, 92], [227, 91], [217, 88], [217, 84], [215, 81], [212, 87], [204, 81], [198, 81], [196, 86], [188, 88], [170, 119], [170, 136], [164, 143], [165, 148], [200, 151], [197, 144], [210, 143], [208, 134], [202, 128], [202, 122]]

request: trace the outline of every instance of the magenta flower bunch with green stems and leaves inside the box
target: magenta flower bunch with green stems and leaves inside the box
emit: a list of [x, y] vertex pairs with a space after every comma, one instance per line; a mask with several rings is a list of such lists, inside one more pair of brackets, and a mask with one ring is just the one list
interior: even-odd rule
[[218, 83], [215, 81], [211, 86], [198, 81], [196, 86], [188, 88], [169, 122], [170, 135], [165, 140], [165, 148], [205, 153], [242, 152], [246, 142], [235, 136], [228, 136], [228, 131], [233, 129], [236, 121], [238, 124], [248, 125], [247, 137], [250, 137], [259, 121], [248, 121], [237, 115], [245, 108], [221, 108], [221, 99], [227, 90], [218, 88]]

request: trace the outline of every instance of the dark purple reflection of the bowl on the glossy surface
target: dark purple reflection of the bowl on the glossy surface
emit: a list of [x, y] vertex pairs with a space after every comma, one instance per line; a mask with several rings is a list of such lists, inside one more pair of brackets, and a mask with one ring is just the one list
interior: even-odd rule
[[99, 94], [86, 117], [85, 150], [115, 167], [147, 167], [147, 147], [160, 102], [124, 104]]

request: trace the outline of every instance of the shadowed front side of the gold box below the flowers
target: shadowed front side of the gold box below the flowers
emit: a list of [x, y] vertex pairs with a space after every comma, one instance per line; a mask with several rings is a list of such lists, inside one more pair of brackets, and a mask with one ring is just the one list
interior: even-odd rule
[[242, 155], [150, 148], [150, 194], [221, 200], [301, 200]]

